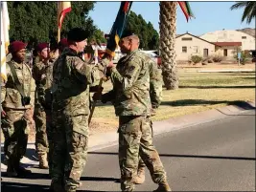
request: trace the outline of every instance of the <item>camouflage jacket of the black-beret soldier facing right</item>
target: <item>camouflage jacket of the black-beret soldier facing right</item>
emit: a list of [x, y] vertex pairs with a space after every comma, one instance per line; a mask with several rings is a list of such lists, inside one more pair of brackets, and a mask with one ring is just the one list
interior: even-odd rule
[[53, 69], [53, 110], [66, 116], [89, 115], [89, 85], [94, 74], [102, 74], [106, 62], [91, 68], [78, 53], [65, 49]]

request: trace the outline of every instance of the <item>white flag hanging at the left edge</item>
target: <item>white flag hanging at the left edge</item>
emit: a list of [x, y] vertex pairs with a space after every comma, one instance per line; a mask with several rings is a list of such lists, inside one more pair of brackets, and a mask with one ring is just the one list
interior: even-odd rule
[[6, 54], [8, 53], [10, 19], [7, 2], [1, 2], [1, 77], [4, 82], [7, 80], [6, 74]]

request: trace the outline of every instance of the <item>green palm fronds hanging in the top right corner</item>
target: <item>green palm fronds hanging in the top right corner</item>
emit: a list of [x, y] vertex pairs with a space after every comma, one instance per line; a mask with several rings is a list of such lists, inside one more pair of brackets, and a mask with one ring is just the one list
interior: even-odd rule
[[244, 8], [242, 22], [246, 19], [246, 23], [250, 24], [256, 17], [256, 2], [255, 1], [240, 1], [231, 6], [230, 10], [237, 10]]

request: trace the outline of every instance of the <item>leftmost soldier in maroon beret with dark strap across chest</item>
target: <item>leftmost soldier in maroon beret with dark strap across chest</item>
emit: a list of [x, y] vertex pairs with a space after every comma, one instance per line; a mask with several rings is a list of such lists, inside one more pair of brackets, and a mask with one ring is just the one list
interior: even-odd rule
[[7, 175], [20, 177], [30, 174], [20, 166], [20, 160], [26, 153], [29, 126], [28, 110], [31, 109], [30, 89], [32, 74], [24, 63], [26, 44], [14, 41], [10, 46], [12, 60], [7, 63], [7, 82], [2, 84], [1, 128], [5, 136], [4, 152], [7, 159]]

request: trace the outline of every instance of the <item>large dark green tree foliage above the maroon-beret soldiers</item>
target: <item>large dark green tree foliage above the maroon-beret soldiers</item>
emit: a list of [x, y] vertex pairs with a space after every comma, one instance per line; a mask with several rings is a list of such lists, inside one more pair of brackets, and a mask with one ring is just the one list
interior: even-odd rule
[[[100, 30], [88, 16], [93, 10], [91, 1], [71, 2], [72, 11], [68, 12], [63, 20], [61, 38], [74, 27], [81, 27], [88, 36], [93, 36]], [[58, 4], [53, 1], [9, 1], [10, 37], [13, 40], [22, 40], [34, 45], [37, 42], [57, 42], [58, 32]], [[94, 35], [98, 38], [100, 35]]]

